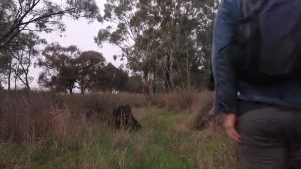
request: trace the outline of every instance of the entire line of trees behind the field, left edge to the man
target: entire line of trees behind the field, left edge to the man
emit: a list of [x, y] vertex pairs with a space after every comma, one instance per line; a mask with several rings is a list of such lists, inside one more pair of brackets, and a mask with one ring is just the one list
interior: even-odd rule
[[[206, 87], [210, 79], [213, 19], [218, 0], [1, 0], [0, 88], [30, 89], [30, 69], [42, 68], [38, 84], [58, 92], [172, 92]], [[121, 49], [106, 63], [97, 51], [61, 46], [38, 36], [63, 32], [63, 17], [98, 20], [94, 41]], [[91, 40], [93, 41], [93, 40]], [[41, 50], [41, 46], [44, 46]]]

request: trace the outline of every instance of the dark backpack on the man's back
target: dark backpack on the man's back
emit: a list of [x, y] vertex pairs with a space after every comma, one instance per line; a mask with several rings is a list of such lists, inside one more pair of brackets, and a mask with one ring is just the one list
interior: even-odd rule
[[237, 77], [275, 84], [301, 73], [301, 0], [242, 0]]

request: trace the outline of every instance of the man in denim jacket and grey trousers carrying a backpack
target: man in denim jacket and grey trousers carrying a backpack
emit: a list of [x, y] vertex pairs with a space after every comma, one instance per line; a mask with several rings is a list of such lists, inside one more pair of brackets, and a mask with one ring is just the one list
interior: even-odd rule
[[[245, 169], [285, 169], [301, 143], [301, 0], [221, 0], [211, 113]], [[299, 57], [298, 57], [299, 56]]]

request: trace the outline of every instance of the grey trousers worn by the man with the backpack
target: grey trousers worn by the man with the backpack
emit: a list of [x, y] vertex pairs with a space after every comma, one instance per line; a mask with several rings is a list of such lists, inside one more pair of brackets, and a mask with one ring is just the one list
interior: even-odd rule
[[245, 169], [287, 169], [301, 146], [301, 111], [240, 102], [238, 131]]

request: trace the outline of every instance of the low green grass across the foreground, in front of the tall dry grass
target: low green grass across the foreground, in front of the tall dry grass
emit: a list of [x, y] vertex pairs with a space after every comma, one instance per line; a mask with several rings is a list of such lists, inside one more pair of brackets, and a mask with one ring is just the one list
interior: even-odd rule
[[100, 125], [90, 128], [92, 135], [86, 133], [80, 141], [65, 146], [57, 147], [54, 143], [0, 146], [0, 168], [240, 168], [235, 157], [228, 162], [228, 156], [233, 154], [227, 152], [232, 143], [223, 134], [190, 130], [183, 123], [189, 114], [156, 108], [139, 113], [143, 114], [140, 120], [143, 129], [138, 132], [112, 132]]

